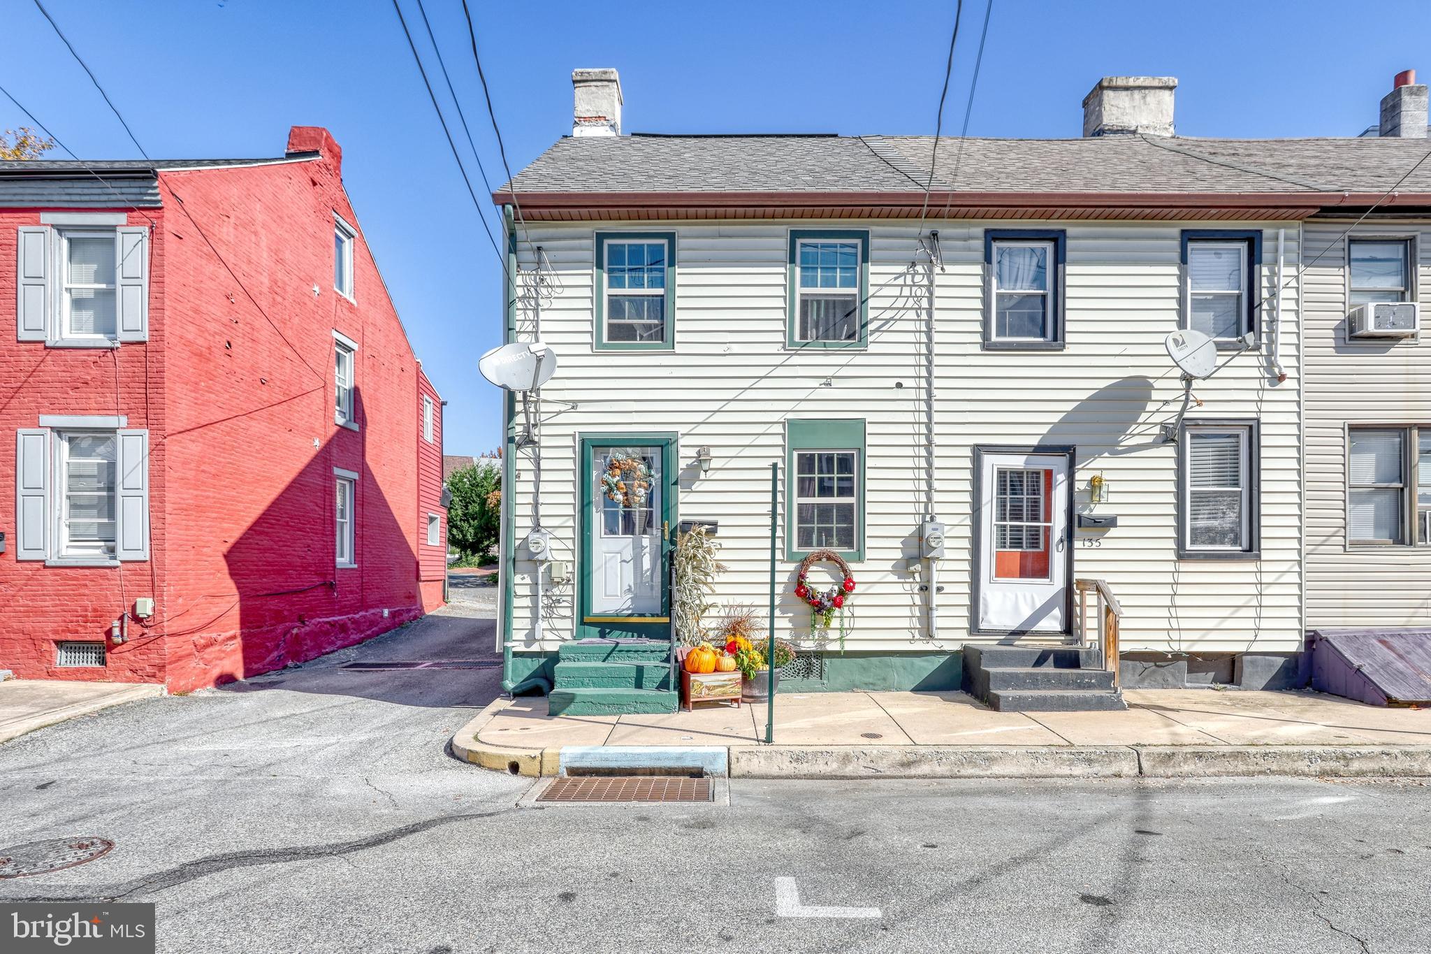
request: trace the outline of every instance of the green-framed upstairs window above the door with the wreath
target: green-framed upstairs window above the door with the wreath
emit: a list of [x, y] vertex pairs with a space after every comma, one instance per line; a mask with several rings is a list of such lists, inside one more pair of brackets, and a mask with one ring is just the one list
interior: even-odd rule
[[674, 233], [597, 233], [597, 349], [673, 348], [674, 285]]

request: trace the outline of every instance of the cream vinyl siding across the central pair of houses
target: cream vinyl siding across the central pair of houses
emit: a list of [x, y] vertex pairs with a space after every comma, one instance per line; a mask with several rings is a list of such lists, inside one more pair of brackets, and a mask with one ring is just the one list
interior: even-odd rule
[[[1075, 576], [1102, 576], [1125, 608], [1125, 649], [1295, 649], [1299, 614], [1298, 322], [1295, 285], [1284, 299], [1282, 362], [1276, 385], [1266, 352], [1236, 359], [1196, 388], [1199, 415], [1219, 422], [1261, 418], [1261, 561], [1178, 561], [1176, 452], [1158, 425], [1176, 416], [1182, 388], [1163, 349], [1178, 328], [1179, 233], [1206, 223], [1019, 222], [1066, 229], [1068, 346], [1058, 352], [982, 349], [986, 272], [985, 227], [1007, 222], [929, 222], [939, 229], [944, 270], [936, 282], [936, 515], [947, 526], [939, 565], [939, 638], [926, 635], [926, 602], [917, 566], [917, 526], [924, 515], [923, 310], [926, 272], [906, 275], [914, 257], [914, 225], [830, 220], [831, 229], [870, 232], [869, 346], [791, 350], [786, 346], [787, 235], [809, 222], [641, 222], [633, 230], [677, 235], [675, 348], [661, 353], [592, 349], [592, 223], [529, 223], [518, 242], [524, 285], [542, 252], [555, 275], [545, 279], [541, 339], [560, 359], [542, 396], [574, 402], [544, 415], [541, 522], [552, 532], [552, 559], [578, 552], [581, 432], [670, 431], [680, 435], [681, 519], [720, 523], [720, 559], [730, 571], [717, 602], [766, 605], [770, 463], [784, 468], [784, 422], [866, 422], [864, 559], [846, 649], [956, 649], [969, 639], [972, 463], [975, 445], [1076, 445], [1075, 511], [1088, 511], [1088, 481], [1102, 472], [1118, 515], [1112, 531], [1079, 532]], [[1251, 229], [1259, 223], [1219, 222]], [[602, 233], [620, 226], [600, 223]], [[1276, 226], [1264, 227], [1262, 292], [1275, 276]], [[1298, 230], [1286, 229], [1286, 267], [1296, 269]], [[521, 295], [517, 330], [529, 340], [534, 296]], [[1271, 300], [1262, 338], [1271, 342]], [[519, 415], [518, 409], [518, 415]], [[518, 426], [521, 418], [518, 418]], [[711, 449], [700, 476], [695, 451]], [[532, 465], [514, 461], [515, 539], [532, 528]], [[784, 485], [781, 472], [781, 485]], [[784, 486], [778, 552], [786, 552]], [[1062, 556], [1062, 554], [1059, 554]], [[537, 564], [517, 548], [514, 639], [535, 648]], [[777, 632], [803, 646], [809, 611], [790, 594], [796, 565], [777, 566]], [[542, 648], [572, 635], [574, 584], [551, 591]], [[987, 636], [985, 638], [987, 639]], [[837, 646], [827, 646], [836, 651]]]

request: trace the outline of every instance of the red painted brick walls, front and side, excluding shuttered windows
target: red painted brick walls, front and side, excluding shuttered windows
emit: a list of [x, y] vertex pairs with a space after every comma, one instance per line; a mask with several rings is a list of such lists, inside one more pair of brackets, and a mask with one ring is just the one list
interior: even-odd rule
[[[153, 562], [56, 569], [17, 564], [11, 546], [0, 556], [0, 594], [14, 608], [0, 621], [0, 668], [187, 691], [311, 659], [441, 605], [441, 588], [434, 599], [419, 579], [421, 370], [361, 235], [353, 300], [333, 290], [333, 213], [358, 226], [341, 153], [323, 130], [295, 129], [289, 147], [323, 156], [160, 174], [150, 340], [114, 352], [120, 413], [150, 428]], [[14, 429], [41, 412], [116, 408], [112, 352], [14, 340], [14, 226], [37, 220], [0, 210], [0, 382], [19, 382], [0, 390], [6, 526]], [[356, 431], [333, 422], [333, 329], [359, 345]], [[333, 468], [359, 475], [352, 569], [335, 566]], [[441, 472], [435, 483], [428, 496]], [[49, 665], [56, 638], [102, 638], [139, 595], [156, 596], [155, 618], [110, 646], [107, 672]]]

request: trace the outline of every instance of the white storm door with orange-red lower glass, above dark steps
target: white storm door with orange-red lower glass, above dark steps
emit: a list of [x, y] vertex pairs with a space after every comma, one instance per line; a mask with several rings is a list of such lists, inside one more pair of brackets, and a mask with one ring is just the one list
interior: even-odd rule
[[979, 628], [1068, 632], [1069, 459], [980, 455]]

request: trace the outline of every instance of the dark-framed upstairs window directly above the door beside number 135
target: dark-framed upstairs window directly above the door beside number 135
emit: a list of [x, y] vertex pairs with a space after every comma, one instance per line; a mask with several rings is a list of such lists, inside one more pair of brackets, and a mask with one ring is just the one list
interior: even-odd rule
[[1063, 232], [985, 232], [985, 348], [1063, 346]]

